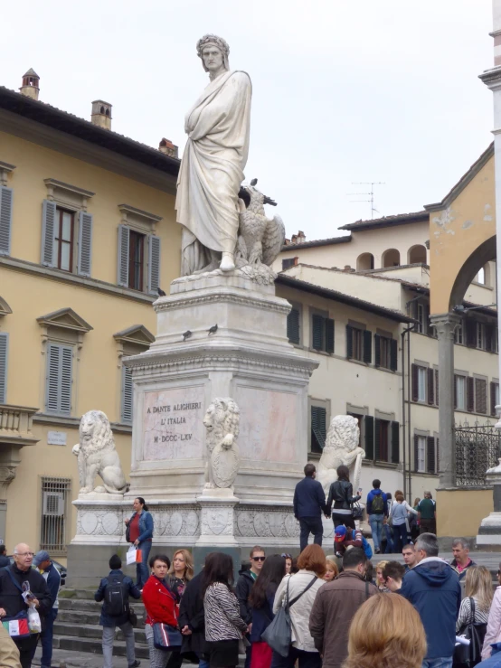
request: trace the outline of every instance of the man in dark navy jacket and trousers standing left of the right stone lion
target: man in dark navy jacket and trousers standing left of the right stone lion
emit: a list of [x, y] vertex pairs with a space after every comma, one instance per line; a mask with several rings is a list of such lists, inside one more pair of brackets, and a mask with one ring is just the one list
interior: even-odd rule
[[300, 546], [303, 551], [307, 546], [309, 534], [313, 533], [313, 542], [322, 544], [324, 527], [322, 513], [327, 514], [326, 494], [324, 488], [315, 480], [317, 468], [314, 464], [305, 466], [305, 477], [294, 491], [294, 517], [301, 528]]

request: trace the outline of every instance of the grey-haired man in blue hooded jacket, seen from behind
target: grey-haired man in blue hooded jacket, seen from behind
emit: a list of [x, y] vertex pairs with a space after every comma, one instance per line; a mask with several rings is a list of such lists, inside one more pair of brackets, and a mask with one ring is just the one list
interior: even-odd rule
[[421, 533], [416, 555], [418, 564], [403, 576], [399, 594], [419, 612], [426, 631], [428, 649], [422, 668], [451, 668], [461, 605], [458, 575], [439, 559], [439, 541], [434, 533]]

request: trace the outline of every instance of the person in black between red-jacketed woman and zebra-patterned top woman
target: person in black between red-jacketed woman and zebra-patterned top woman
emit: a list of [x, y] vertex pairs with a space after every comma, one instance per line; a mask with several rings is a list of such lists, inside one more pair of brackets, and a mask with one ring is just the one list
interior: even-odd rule
[[[205, 558], [211, 558], [213, 552]], [[179, 606], [179, 628], [183, 634], [181, 654], [195, 654], [200, 663], [198, 668], [209, 668], [209, 662], [203, 658], [208, 651], [205, 642], [205, 614], [203, 611], [203, 570], [191, 579], [184, 589], [181, 605]]]

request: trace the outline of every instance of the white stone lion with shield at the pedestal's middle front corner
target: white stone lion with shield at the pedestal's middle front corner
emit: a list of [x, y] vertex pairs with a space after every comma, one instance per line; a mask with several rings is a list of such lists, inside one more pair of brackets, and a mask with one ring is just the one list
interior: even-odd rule
[[207, 430], [205, 489], [233, 489], [240, 465], [240, 409], [232, 399], [214, 399], [203, 418]]

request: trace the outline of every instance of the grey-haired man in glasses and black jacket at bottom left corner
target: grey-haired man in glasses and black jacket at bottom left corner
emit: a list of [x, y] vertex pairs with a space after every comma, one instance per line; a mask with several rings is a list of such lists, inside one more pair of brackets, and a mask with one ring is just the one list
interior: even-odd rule
[[[44, 627], [44, 617], [52, 609], [52, 599], [43, 576], [32, 569], [32, 561], [32, 550], [22, 542], [14, 548], [14, 564], [0, 569], [0, 618], [14, 617], [28, 609], [22, 596], [23, 583], [28, 582], [34, 597], [31, 603], [38, 610]], [[28, 638], [13, 638], [19, 649], [22, 668], [31, 668], [38, 637], [39, 634], [32, 634]]]

